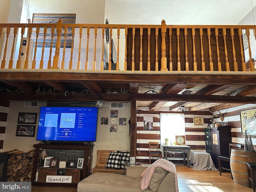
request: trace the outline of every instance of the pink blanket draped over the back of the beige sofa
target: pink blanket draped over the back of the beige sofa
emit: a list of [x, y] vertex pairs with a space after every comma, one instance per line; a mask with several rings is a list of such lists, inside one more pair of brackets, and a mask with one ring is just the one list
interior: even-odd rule
[[156, 160], [151, 166], [149, 166], [148, 168], [146, 168], [144, 170], [144, 172], [142, 172], [142, 174], [141, 174], [142, 180], [140, 182], [141, 190], [145, 190], [148, 188], [150, 179], [152, 178], [152, 175], [153, 175], [156, 167], [162, 167], [166, 171], [174, 173], [175, 191], [178, 192], [179, 188], [178, 188], [178, 177], [177, 177], [176, 167], [172, 162], [165, 160], [165, 159]]

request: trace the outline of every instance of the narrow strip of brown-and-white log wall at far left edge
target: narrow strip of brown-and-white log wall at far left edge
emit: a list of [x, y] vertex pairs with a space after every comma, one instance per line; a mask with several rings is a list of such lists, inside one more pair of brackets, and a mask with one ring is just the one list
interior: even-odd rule
[[0, 100], [0, 149], [2, 149], [4, 145], [4, 134], [6, 129], [9, 104], [10, 101]]

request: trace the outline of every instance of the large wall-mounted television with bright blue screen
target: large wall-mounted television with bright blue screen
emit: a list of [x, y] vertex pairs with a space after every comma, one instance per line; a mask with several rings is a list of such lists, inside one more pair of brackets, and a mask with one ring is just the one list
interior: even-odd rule
[[36, 140], [95, 141], [97, 107], [41, 107]]

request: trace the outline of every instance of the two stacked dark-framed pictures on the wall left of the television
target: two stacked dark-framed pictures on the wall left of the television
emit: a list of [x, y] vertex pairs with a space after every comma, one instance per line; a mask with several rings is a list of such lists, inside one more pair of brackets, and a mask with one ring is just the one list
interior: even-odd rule
[[37, 113], [19, 112], [16, 136], [34, 137]]

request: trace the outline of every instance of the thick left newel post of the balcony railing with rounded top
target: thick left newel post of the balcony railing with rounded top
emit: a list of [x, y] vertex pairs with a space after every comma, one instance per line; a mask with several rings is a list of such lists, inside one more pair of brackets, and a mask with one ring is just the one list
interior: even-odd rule
[[57, 41], [56, 41], [56, 48], [55, 48], [55, 55], [53, 57], [52, 67], [51, 69], [59, 69], [60, 65], [60, 37], [62, 33], [62, 19], [60, 18], [57, 23]]

